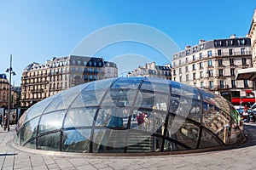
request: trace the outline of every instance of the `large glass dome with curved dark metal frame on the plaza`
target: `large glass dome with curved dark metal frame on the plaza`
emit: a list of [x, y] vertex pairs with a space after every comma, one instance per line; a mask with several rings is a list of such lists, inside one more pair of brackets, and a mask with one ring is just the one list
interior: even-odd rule
[[42, 100], [16, 127], [15, 144], [89, 153], [195, 150], [241, 143], [240, 116], [216, 94], [179, 82], [119, 77]]

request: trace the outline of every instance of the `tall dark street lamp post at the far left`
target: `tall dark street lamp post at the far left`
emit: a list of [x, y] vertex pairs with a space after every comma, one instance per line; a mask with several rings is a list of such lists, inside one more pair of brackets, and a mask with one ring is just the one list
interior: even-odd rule
[[6, 70], [9, 72], [9, 99], [8, 99], [8, 118], [7, 118], [7, 130], [9, 131], [9, 114], [10, 114], [10, 105], [11, 105], [11, 82], [12, 82], [12, 75], [15, 76], [15, 71], [12, 68], [12, 54], [10, 55], [9, 59], [9, 68]]

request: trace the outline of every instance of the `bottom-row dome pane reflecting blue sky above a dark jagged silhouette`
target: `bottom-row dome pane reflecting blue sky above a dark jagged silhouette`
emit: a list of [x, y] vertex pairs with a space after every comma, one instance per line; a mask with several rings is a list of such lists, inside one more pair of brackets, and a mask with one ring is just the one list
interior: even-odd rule
[[89, 152], [90, 129], [69, 130], [63, 133], [63, 151]]

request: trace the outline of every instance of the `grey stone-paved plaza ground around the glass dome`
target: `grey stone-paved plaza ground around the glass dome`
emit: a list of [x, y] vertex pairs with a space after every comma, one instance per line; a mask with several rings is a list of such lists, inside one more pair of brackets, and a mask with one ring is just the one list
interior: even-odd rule
[[256, 123], [244, 125], [247, 142], [232, 150], [168, 156], [53, 156], [13, 147], [0, 127], [0, 167], [9, 169], [256, 169]]

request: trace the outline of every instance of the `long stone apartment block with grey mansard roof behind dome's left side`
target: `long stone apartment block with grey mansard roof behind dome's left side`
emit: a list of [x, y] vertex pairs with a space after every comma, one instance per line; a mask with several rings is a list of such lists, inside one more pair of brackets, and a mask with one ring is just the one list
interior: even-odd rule
[[118, 77], [117, 65], [102, 58], [66, 56], [27, 65], [21, 77], [21, 107], [28, 107], [84, 82]]

